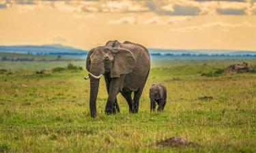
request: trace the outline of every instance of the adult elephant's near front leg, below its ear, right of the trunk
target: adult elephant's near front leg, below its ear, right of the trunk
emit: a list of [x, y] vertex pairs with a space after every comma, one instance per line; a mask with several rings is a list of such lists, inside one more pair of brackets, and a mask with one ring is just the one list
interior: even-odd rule
[[115, 109], [115, 101], [120, 88], [120, 78], [113, 78], [109, 85], [109, 98], [106, 102], [106, 114], [113, 114]]

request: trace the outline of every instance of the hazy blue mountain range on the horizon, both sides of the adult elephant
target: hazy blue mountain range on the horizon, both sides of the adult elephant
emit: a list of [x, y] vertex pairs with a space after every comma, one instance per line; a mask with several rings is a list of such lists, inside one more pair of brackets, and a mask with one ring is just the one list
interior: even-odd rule
[[[249, 56], [256, 58], [256, 52], [248, 50], [166, 50], [149, 48], [151, 56]], [[61, 44], [46, 44], [42, 46], [0, 46], [0, 52], [45, 55], [87, 55], [87, 50], [63, 46]]]

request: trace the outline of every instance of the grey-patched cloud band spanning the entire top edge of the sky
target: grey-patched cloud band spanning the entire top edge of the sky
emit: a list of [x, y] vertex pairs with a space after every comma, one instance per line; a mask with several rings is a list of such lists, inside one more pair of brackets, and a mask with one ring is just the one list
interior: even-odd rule
[[[5, 0], [0, 8], [12, 5], [54, 7], [66, 12], [154, 12], [162, 16], [195, 16], [205, 14], [252, 15], [255, 14], [255, 0], [122, 0], [122, 1], [53, 1], [53, 0]], [[31, 7], [25, 7], [25, 10]]]

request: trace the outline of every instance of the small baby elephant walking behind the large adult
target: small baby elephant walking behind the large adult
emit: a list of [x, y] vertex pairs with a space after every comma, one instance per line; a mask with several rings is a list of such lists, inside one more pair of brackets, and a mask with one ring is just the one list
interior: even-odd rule
[[167, 90], [162, 84], [153, 84], [150, 87], [150, 111], [156, 110], [158, 103], [158, 111], [163, 111], [166, 104]]

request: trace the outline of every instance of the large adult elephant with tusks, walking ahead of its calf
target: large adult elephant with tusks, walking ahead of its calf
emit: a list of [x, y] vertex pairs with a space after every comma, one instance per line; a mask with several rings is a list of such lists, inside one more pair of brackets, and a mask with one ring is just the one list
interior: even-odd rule
[[[109, 98], [106, 101], [106, 114], [119, 112], [117, 94], [121, 92], [129, 105], [130, 113], [137, 113], [139, 99], [150, 72], [150, 54], [139, 44], [129, 41], [108, 41], [105, 46], [99, 46], [89, 51], [86, 69], [93, 75], [104, 75]], [[89, 75], [91, 117], [96, 117], [96, 99], [99, 79]], [[134, 98], [131, 94], [134, 92]]]

